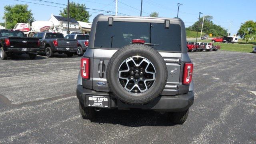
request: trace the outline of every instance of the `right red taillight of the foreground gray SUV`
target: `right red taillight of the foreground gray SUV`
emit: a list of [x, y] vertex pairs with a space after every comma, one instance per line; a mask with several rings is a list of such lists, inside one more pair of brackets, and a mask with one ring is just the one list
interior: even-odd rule
[[182, 84], [189, 84], [192, 81], [193, 64], [184, 63]]

